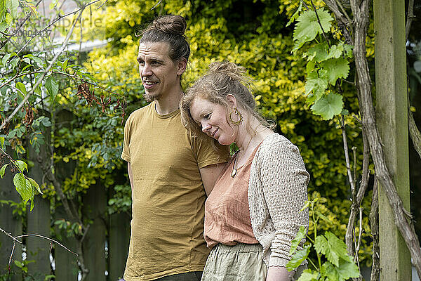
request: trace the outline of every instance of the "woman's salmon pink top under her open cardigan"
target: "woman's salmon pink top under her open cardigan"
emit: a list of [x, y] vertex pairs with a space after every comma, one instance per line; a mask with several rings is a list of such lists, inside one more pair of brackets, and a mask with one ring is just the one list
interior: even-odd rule
[[203, 236], [210, 249], [218, 243], [258, 243], [251, 228], [247, 197], [250, 167], [258, 147], [243, 166], [236, 168], [234, 178], [231, 173], [236, 157], [228, 162], [206, 200]]

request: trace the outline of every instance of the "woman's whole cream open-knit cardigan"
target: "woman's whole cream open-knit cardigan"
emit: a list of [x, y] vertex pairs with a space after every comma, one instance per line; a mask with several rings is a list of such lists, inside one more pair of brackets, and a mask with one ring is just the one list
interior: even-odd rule
[[308, 229], [308, 209], [300, 209], [307, 200], [309, 177], [298, 148], [278, 133], [267, 136], [253, 158], [248, 182], [251, 226], [268, 267], [286, 266], [291, 241], [300, 226]]

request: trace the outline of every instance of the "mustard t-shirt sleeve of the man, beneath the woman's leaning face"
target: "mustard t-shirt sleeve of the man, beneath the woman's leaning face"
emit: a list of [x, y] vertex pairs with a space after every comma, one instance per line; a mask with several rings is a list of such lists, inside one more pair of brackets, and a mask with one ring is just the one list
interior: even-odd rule
[[217, 151], [212, 142], [213, 138], [209, 138], [208, 136], [193, 137], [193, 150], [199, 169], [212, 164], [228, 162], [230, 158], [228, 145], [220, 145], [218, 143], [216, 145], [218, 148]]

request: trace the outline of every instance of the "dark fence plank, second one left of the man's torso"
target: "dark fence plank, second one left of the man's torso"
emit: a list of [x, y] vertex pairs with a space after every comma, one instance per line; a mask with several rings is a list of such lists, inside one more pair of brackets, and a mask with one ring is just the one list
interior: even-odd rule
[[83, 240], [83, 253], [86, 267], [89, 269], [86, 281], [105, 281], [105, 215], [107, 211], [107, 191], [99, 184], [89, 188], [83, 197], [83, 213], [85, 218], [93, 221]]

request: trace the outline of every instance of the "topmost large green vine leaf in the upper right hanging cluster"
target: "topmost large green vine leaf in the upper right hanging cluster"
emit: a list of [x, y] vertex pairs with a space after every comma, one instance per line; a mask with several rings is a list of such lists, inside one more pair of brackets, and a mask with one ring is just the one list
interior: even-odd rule
[[[293, 38], [295, 40], [293, 52], [301, 48], [305, 42], [314, 40], [317, 34], [322, 34], [323, 31], [327, 32], [330, 30], [333, 18], [330, 16], [328, 11], [321, 8], [317, 10], [317, 15], [319, 15], [321, 26], [317, 21], [315, 11], [305, 11], [298, 17], [298, 23], [295, 25], [293, 34]], [[321, 27], [323, 27], [323, 31], [321, 30]]]

